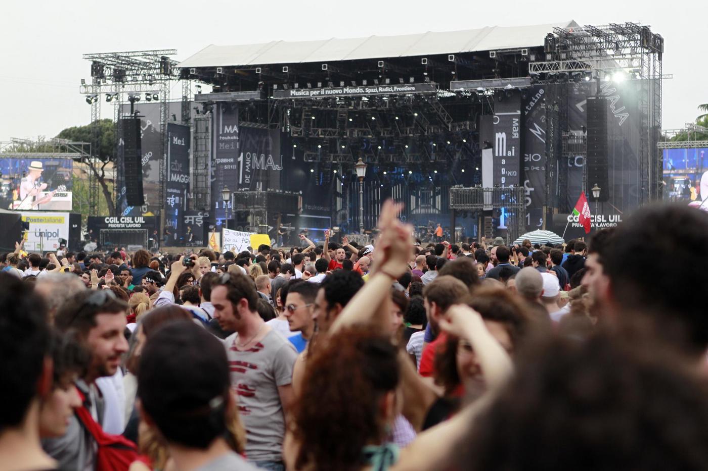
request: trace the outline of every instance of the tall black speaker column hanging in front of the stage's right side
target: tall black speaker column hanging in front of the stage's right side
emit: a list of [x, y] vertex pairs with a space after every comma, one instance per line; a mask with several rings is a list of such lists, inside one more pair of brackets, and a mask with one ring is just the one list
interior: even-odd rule
[[[605, 202], [610, 199], [610, 182], [607, 165], [607, 99], [588, 97], [588, 199]], [[590, 191], [600, 187], [600, 198], [594, 199]]]

